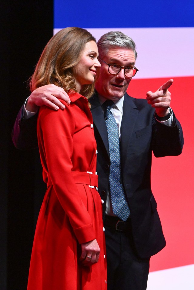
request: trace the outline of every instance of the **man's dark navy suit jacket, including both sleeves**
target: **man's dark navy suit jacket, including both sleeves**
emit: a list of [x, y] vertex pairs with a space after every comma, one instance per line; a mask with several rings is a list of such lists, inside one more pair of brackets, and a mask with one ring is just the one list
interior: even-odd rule
[[[110, 167], [108, 134], [96, 94], [90, 103], [98, 150], [98, 191], [104, 200], [104, 216]], [[156, 121], [154, 111], [145, 99], [135, 99], [125, 94], [121, 123], [122, 180], [131, 211], [132, 235], [141, 258], [158, 253], [166, 245], [157, 203], [151, 190], [152, 151], [156, 157], [179, 155], [184, 142], [181, 125], [174, 113], [176, 125], [168, 127]], [[13, 142], [20, 149], [36, 147], [36, 116], [28, 120], [21, 116], [22, 108], [15, 121]]]

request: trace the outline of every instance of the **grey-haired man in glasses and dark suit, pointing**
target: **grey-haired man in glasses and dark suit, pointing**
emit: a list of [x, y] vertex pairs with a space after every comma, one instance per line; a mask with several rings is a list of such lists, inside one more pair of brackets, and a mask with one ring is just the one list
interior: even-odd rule
[[[147, 100], [132, 98], [126, 90], [138, 71], [134, 41], [121, 32], [109, 32], [98, 41], [98, 49], [102, 67], [90, 103], [98, 149], [98, 191], [103, 203], [108, 289], [145, 290], [150, 256], [166, 245], [151, 191], [152, 151], [156, 157], [175, 156], [181, 154], [183, 146], [181, 125], [169, 107], [168, 88], [173, 80], [155, 93], [149, 91]], [[32, 92], [26, 109], [35, 112], [38, 106], [45, 104], [53, 109], [64, 109], [58, 98], [67, 100], [62, 88], [43, 86]], [[113, 103], [105, 106], [106, 100]], [[119, 191], [123, 191], [121, 199], [128, 209], [123, 219], [115, 213], [115, 192], [109, 180], [117, 161], [111, 163], [107, 108], [109, 116], [114, 116], [120, 139], [117, 158], [119, 156], [122, 190]], [[13, 141], [18, 148], [32, 148], [37, 145], [36, 117], [25, 120], [23, 109], [15, 122]]]

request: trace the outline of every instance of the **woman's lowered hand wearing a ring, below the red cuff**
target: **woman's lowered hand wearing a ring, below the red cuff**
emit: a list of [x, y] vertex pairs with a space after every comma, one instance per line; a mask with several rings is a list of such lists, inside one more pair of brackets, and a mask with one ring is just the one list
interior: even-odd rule
[[79, 260], [82, 262], [83, 265], [90, 266], [93, 263], [98, 262], [100, 256], [100, 248], [96, 239], [88, 243], [81, 244], [81, 248], [82, 254]]

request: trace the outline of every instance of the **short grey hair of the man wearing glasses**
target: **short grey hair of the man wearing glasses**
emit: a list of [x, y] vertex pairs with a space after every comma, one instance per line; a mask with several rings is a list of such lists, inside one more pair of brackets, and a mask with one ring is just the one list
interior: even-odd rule
[[134, 52], [135, 59], [137, 58], [137, 52], [135, 50], [135, 42], [131, 37], [122, 33], [121, 31], [110, 31], [102, 35], [97, 42], [99, 57], [102, 58], [109, 49], [114, 47], [127, 48]]

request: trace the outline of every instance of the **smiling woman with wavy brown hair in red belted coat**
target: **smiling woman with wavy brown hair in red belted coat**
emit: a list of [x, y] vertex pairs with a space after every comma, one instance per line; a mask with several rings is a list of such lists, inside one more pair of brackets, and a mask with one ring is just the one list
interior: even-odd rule
[[64, 102], [64, 111], [39, 109], [38, 146], [47, 191], [35, 231], [28, 290], [106, 289], [97, 150], [87, 100], [100, 67], [97, 57], [95, 38], [88, 31], [65, 28], [46, 45], [31, 78], [31, 91], [55, 84], [65, 89], [71, 103]]

